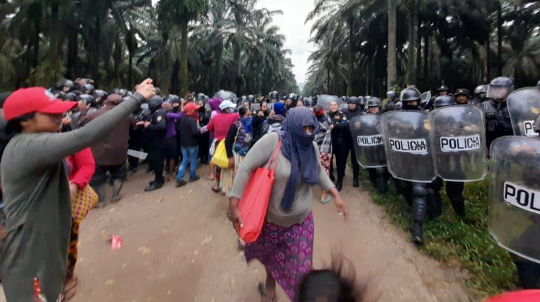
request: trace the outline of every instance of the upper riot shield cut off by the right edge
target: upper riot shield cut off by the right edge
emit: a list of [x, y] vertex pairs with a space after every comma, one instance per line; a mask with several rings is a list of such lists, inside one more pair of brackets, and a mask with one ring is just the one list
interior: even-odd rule
[[538, 136], [534, 132], [534, 119], [540, 113], [540, 88], [525, 87], [509, 94], [508, 109], [516, 136]]

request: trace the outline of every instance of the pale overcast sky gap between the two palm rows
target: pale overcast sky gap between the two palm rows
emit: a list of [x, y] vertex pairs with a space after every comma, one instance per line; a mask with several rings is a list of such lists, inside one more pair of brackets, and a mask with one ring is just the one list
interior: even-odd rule
[[259, 0], [257, 8], [282, 10], [283, 15], [274, 17], [281, 32], [287, 37], [285, 48], [292, 51], [292, 64], [297, 82], [306, 82], [308, 57], [313, 51], [313, 44], [308, 43], [311, 22], [304, 24], [306, 15], [313, 10], [313, 0]]

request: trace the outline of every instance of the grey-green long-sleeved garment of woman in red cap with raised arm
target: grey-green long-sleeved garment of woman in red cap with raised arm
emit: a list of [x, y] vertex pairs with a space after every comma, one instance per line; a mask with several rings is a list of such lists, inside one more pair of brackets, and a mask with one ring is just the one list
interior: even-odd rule
[[64, 159], [101, 141], [141, 106], [134, 94], [84, 127], [64, 133], [17, 134], [0, 164], [8, 236], [0, 257], [7, 301], [34, 301], [39, 278], [48, 301], [56, 301], [66, 280], [71, 195]]

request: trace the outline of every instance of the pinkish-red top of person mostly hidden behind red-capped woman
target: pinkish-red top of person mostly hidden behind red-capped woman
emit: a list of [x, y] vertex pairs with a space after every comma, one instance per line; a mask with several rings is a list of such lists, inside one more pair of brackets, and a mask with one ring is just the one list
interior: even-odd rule
[[79, 189], [84, 189], [92, 179], [96, 169], [92, 150], [90, 148], [80, 150], [66, 157], [66, 160], [71, 164], [71, 172], [68, 175], [69, 181], [78, 185]]

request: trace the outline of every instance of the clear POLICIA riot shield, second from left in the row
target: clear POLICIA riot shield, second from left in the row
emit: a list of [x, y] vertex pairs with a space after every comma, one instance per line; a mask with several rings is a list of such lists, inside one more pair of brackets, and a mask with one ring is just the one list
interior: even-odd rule
[[388, 111], [381, 115], [388, 171], [401, 180], [432, 182], [435, 179], [427, 113]]

